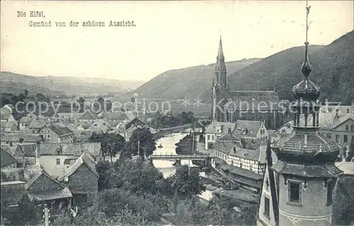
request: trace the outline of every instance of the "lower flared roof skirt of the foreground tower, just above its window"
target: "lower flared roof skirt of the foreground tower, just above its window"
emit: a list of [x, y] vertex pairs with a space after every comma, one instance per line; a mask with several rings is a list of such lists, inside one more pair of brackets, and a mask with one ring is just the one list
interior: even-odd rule
[[307, 177], [338, 177], [342, 171], [334, 164], [292, 164], [278, 161], [272, 169], [281, 174]]

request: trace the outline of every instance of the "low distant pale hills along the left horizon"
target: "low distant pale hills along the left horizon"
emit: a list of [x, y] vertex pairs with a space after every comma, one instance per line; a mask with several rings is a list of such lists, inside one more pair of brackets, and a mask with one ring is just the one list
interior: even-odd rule
[[107, 94], [120, 93], [137, 88], [144, 81], [119, 81], [105, 78], [82, 77], [33, 77], [12, 72], [0, 72], [2, 93], [42, 93], [59, 96], [62, 94]]

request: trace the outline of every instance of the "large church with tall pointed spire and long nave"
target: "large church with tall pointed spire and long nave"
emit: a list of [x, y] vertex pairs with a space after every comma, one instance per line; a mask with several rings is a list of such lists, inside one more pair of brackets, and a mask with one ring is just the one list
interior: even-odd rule
[[212, 120], [235, 123], [236, 120], [264, 120], [268, 130], [287, 122], [275, 91], [231, 91], [227, 77], [222, 38], [219, 40], [215, 76], [212, 81]]

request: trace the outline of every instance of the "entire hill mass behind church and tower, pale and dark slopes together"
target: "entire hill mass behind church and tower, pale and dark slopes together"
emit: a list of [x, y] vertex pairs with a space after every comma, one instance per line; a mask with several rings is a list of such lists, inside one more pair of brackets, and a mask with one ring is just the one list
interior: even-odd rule
[[[330, 45], [310, 45], [310, 79], [321, 86], [321, 100], [350, 104], [354, 94], [353, 31]], [[301, 81], [304, 46], [292, 47], [263, 60], [227, 63], [232, 90], [273, 90], [280, 98], [292, 99], [292, 86]], [[135, 91], [148, 98], [202, 98], [210, 101], [215, 64], [164, 72]]]

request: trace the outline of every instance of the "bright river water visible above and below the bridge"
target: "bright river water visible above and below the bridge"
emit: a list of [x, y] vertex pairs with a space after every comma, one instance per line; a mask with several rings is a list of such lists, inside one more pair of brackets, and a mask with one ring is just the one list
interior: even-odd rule
[[[156, 140], [156, 151], [154, 154], [176, 154], [176, 143], [183, 139], [188, 135], [187, 133], [173, 133], [166, 137], [161, 137], [159, 140]], [[162, 145], [163, 147], [158, 148], [157, 146]], [[177, 158], [176, 154], [176, 158]], [[166, 160], [154, 160], [154, 166], [164, 174], [164, 177], [168, 177], [176, 173], [176, 167], [173, 166], [172, 161]], [[186, 164], [189, 166], [193, 166], [192, 162], [189, 160], [182, 160], [181, 164]], [[203, 173], [200, 173], [202, 175]], [[200, 197], [210, 200], [212, 198], [212, 191], [204, 191]]]

